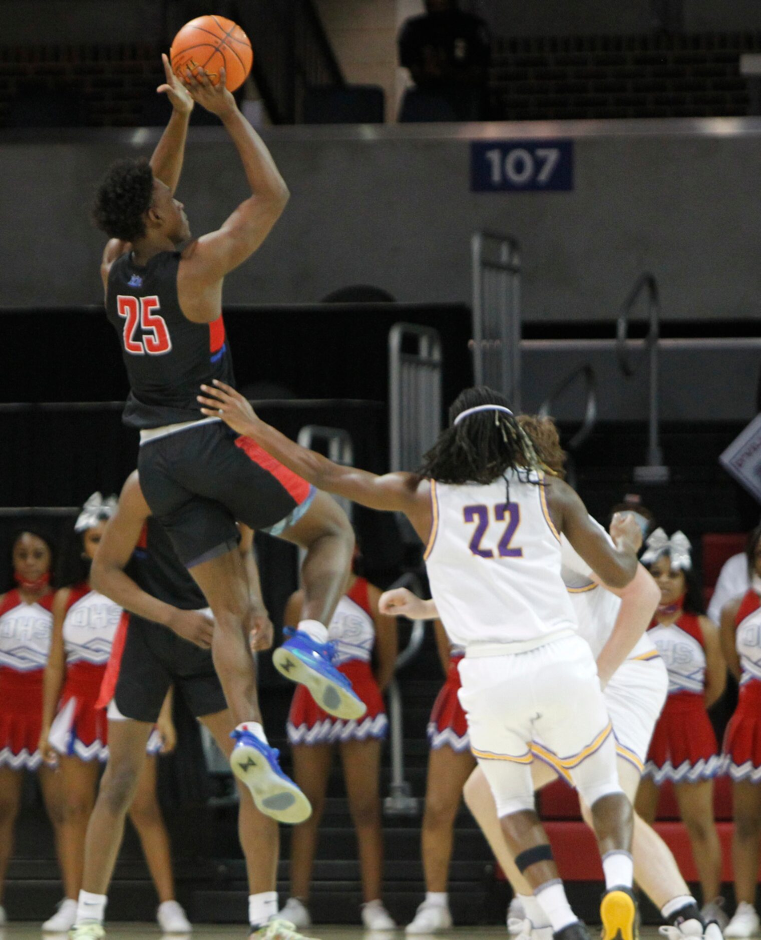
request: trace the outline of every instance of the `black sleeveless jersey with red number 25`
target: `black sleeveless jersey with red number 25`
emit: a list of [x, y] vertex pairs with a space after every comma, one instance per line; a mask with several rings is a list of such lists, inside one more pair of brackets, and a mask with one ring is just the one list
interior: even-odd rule
[[234, 384], [222, 316], [213, 323], [185, 317], [177, 297], [179, 265], [177, 251], [154, 255], [144, 268], [127, 253], [108, 274], [105, 310], [127, 367], [124, 423], [133, 428], [200, 420], [200, 384]]

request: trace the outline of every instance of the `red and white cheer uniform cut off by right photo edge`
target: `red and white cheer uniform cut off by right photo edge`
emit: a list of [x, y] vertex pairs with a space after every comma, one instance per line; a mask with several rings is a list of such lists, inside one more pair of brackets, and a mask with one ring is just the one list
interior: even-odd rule
[[724, 767], [733, 780], [761, 780], [761, 598], [750, 589], [735, 618], [740, 660], [737, 709], [724, 734]]

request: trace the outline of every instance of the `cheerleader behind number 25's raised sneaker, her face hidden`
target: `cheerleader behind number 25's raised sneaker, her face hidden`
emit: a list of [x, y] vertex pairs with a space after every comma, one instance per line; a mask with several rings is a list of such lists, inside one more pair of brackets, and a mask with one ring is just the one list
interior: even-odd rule
[[[304, 685], [299, 685], [293, 696], [288, 717], [293, 778], [312, 806], [309, 820], [293, 826], [291, 897], [280, 912], [297, 928], [309, 927], [311, 922], [307, 906], [311, 870], [335, 747], [341, 752], [346, 795], [357, 831], [362, 922], [368, 930], [394, 930], [396, 926], [381, 901], [383, 832], [378, 783], [381, 743], [388, 731], [382, 692], [393, 675], [397, 633], [396, 619], [378, 611], [380, 594], [377, 587], [352, 574], [328, 627], [328, 638], [337, 650], [333, 662], [351, 680], [367, 705], [367, 713], [352, 721], [334, 718], [315, 704]], [[301, 619], [302, 603], [303, 592], [297, 591], [285, 608], [286, 623]]]

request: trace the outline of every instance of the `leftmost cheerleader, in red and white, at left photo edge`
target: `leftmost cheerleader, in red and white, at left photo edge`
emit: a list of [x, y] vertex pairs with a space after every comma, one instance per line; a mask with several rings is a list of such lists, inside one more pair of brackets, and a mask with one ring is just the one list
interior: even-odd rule
[[[42, 674], [53, 629], [50, 587], [52, 546], [34, 528], [19, 530], [10, 542], [13, 587], [0, 594], [0, 925], [13, 828], [21, 803], [24, 771], [36, 771], [42, 799], [55, 832], [55, 847], [64, 885], [71, 871], [61, 848], [61, 804], [58, 779], [42, 763], [38, 743], [42, 723]], [[55, 930], [53, 921], [45, 929]]]

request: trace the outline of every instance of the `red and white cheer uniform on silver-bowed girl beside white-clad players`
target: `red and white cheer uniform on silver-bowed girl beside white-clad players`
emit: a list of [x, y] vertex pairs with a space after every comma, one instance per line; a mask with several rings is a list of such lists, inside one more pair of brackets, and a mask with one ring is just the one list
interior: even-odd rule
[[645, 776], [657, 784], [716, 776], [721, 760], [706, 711], [706, 642], [700, 619], [683, 613], [671, 624], [654, 621], [648, 635], [669, 671], [669, 695], [650, 744]]

